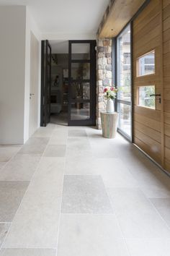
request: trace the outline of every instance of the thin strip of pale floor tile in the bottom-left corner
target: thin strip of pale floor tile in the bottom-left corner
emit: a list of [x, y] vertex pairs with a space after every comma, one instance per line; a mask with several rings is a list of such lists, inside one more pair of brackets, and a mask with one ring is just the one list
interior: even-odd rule
[[1, 256], [56, 256], [55, 249], [2, 249]]

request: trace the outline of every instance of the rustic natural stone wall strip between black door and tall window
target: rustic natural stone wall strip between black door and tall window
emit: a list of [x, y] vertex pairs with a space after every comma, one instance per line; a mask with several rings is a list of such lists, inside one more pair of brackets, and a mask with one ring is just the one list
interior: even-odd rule
[[105, 110], [104, 88], [112, 86], [112, 39], [97, 40], [97, 128], [101, 129], [100, 111]]

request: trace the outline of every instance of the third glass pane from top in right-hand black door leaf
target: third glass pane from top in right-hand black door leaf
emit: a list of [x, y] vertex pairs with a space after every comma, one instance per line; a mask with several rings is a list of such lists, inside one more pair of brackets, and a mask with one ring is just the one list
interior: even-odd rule
[[72, 82], [71, 83], [71, 98], [84, 99], [90, 98], [90, 83], [89, 82]]

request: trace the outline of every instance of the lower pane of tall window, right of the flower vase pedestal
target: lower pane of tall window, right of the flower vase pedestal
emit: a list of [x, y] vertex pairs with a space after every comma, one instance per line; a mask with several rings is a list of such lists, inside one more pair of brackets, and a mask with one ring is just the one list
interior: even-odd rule
[[130, 105], [118, 103], [117, 111], [119, 113], [118, 127], [131, 137], [131, 107]]

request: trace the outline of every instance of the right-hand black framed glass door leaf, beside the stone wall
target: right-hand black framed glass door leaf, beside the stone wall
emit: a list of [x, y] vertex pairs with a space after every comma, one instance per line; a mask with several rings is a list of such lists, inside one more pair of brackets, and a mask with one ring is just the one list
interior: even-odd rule
[[96, 40], [68, 42], [68, 125], [96, 124]]

